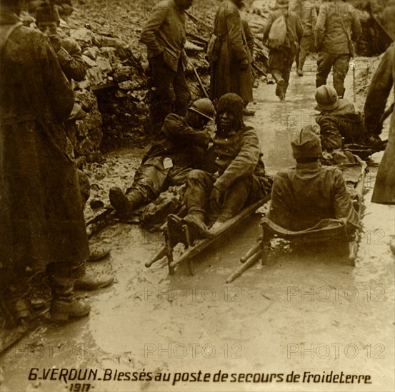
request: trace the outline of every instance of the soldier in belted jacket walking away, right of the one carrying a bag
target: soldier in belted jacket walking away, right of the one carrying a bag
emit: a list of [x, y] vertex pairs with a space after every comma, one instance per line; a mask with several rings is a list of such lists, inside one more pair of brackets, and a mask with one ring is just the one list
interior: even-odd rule
[[334, 88], [339, 98], [344, 97], [344, 79], [349, 71], [349, 61], [354, 57], [354, 42], [361, 33], [361, 23], [356, 9], [339, 0], [328, 0], [319, 6], [315, 28], [317, 60], [316, 87], [326, 84], [333, 67]]

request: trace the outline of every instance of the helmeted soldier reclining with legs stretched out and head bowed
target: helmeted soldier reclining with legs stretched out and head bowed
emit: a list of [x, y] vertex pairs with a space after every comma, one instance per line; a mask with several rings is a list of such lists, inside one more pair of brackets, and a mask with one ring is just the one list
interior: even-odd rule
[[144, 155], [126, 194], [119, 187], [110, 189], [111, 205], [121, 217], [131, 217], [136, 208], [156, 199], [167, 187], [183, 185], [188, 172], [203, 165], [210, 140], [205, 127], [214, 115], [211, 100], [202, 98], [191, 105], [185, 117], [166, 116], [161, 139]]

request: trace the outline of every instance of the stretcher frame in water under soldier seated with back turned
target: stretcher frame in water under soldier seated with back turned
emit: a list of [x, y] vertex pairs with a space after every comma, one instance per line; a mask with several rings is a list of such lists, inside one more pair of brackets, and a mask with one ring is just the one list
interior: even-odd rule
[[[346, 186], [350, 188], [351, 195], [357, 205], [359, 220], [361, 218], [362, 194], [364, 191], [364, 180], [367, 171], [366, 163], [361, 158], [356, 157], [357, 163], [348, 163], [337, 165], [344, 173]], [[293, 232], [276, 225], [276, 223], [264, 217], [261, 221], [263, 233], [258, 242], [251, 247], [244, 257], [241, 257], [241, 265], [232, 272], [226, 279], [226, 283], [233, 282], [234, 279], [243, 274], [256, 262], [261, 260], [264, 265], [271, 264], [269, 255], [271, 252], [271, 239], [275, 237], [286, 239], [291, 244], [300, 245], [301, 247], [311, 247], [311, 245], [334, 244], [337, 249], [342, 249], [347, 255], [351, 264], [354, 264], [356, 252], [358, 250], [359, 226], [352, 227], [346, 219], [326, 219], [321, 220], [317, 225], [309, 229]], [[333, 249], [333, 247], [332, 247]]]

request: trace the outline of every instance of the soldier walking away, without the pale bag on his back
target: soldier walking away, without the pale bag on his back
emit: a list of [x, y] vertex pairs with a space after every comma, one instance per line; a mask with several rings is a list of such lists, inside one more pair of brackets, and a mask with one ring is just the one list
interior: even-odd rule
[[286, 35], [284, 43], [279, 48], [270, 48], [269, 70], [276, 81], [276, 96], [280, 100], [285, 99], [286, 89], [289, 85], [289, 73], [296, 51], [303, 36], [301, 21], [294, 11], [288, 10], [288, 0], [277, 0], [276, 9], [271, 12], [269, 23], [264, 31], [264, 41], [268, 40], [272, 24], [276, 19], [284, 15], [286, 25]]

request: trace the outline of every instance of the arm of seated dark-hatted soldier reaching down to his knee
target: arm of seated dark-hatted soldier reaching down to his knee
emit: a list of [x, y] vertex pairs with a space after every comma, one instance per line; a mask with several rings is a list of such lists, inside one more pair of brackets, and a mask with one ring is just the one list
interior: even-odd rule
[[236, 158], [226, 167], [224, 173], [216, 180], [214, 187], [225, 192], [240, 177], [254, 172], [261, 154], [259, 139], [254, 129], [246, 130], [243, 135], [241, 149]]

